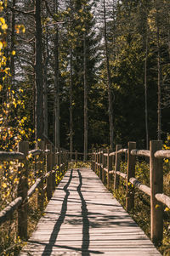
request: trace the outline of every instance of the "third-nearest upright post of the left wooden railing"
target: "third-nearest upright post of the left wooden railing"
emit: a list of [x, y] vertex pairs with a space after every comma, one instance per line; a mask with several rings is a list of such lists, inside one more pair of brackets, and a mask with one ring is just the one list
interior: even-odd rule
[[50, 151], [50, 153], [48, 153], [47, 156], [47, 170], [48, 173], [50, 172], [50, 174], [48, 175], [48, 179], [47, 179], [47, 196], [48, 196], [48, 201], [51, 199], [52, 197], [52, 190], [53, 190], [53, 180], [52, 180], [52, 145], [48, 144], [47, 145], [47, 149]]

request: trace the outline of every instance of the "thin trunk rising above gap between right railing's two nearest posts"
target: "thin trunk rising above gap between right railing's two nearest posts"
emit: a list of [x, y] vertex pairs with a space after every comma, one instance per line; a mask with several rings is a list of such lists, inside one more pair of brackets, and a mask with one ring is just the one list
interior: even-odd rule
[[[146, 21], [147, 22], [147, 21]], [[147, 61], [148, 61], [148, 30], [145, 38], [145, 60], [144, 60], [144, 111], [145, 111], [145, 135], [146, 149], [149, 149], [149, 132], [148, 132], [148, 102], [147, 102]]]

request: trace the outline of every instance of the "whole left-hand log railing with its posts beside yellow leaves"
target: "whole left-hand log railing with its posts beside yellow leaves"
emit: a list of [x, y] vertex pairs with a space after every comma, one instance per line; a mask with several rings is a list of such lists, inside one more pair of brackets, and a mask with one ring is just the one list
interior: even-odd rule
[[[19, 226], [19, 231], [18, 235], [20, 236], [21, 239], [26, 239], [27, 238], [27, 200], [32, 196], [32, 194], [38, 189], [38, 200], [41, 200], [38, 202], [39, 207], [43, 206], [43, 193], [44, 191], [47, 191], [48, 193], [48, 200], [52, 196], [52, 191], [54, 190], [55, 186], [55, 174], [56, 174], [56, 168], [53, 170], [54, 165], [59, 166], [59, 170], [62, 171], [65, 166], [67, 166], [67, 157], [61, 157], [62, 155], [65, 154], [64, 151], [58, 151], [54, 152], [52, 149], [52, 146], [47, 145], [47, 149], [44, 149], [44, 143], [41, 141], [39, 144], [37, 144], [39, 148], [35, 150], [28, 151], [28, 142], [21, 142], [19, 144], [19, 150], [21, 149], [22, 152], [5, 152], [5, 151], [0, 151], [0, 161], [13, 161], [13, 160], [20, 160], [20, 162], [25, 162], [23, 165], [19, 165], [20, 170], [19, 170], [19, 193], [17, 198], [14, 199], [13, 202], [10, 202], [7, 207], [5, 207], [1, 212], [0, 212], [0, 224], [3, 224], [8, 218], [11, 216], [11, 213], [14, 213], [15, 210], [18, 210], [18, 226]], [[37, 171], [38, 168], [42, 170], [43, 167], [40, 166], [42, 165], [42, 157], [47, 156], [47, 174], [39, 173], [39, 177], [35, 181], [33, 185], [31, 185], [31, 188], [27, 190], [27, 184], [25, 183], [26, 179], [23, 179], [22, 177], [26, 177], [27, 175], [27, 162], [29, 161], [29, 158], [26, 156], [39, 156], [40, 161], [37, 164]], [[56, 158], [57, 157], [57, 158]], [[22, 169], [23, 166], [23, 169]], [[47, 185], [43, 187], [43, 180], [47, 179]], [[21, 183], [20, 183], [21, 182]], [[23, 205], [23, 206], [22, 206]], [[20, 209], [25, 208], [25, 212], [22, 212], [20, 215]], [[24, 213], [24, 215], [23, 215]], [[21, 219], [20, 219], [21, 216]], [[23, 223], [25, 225], [23, 226]]]

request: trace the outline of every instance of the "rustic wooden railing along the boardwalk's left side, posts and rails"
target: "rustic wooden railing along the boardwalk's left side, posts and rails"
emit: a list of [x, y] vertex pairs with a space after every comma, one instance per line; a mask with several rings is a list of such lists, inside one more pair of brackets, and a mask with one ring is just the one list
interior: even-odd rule
[[[36, 156], [37, 164], [35, 166], [36, 181], [31, 187], [28, 187], [28, 162], [29, 157]], [[17, 210], [17, 226], [20, 239], [27, 239], [27, 220], [28, 220], [28, 202], [32, 194], [37, 192], [37, 208], [42, 210], [44, 198], [47, 195], [50, 200], [55, 189], [56, 170], [64, 171], [68, 164], [68, 154], [66, 151], [56, 151], [52, 144], [43, 141], [37, 142], [37, 148], [29, 151], [29, 143], [20, 142], [17, 152], [0, 151], [0, 162], [18, 160], [21, 164], [18, 167], [19, 184], [17, 188], [17, 197], [10, 202], [6, 208], [0, 212], [0, 224], [3, 224], [11, 214]], [[46, 160], [46, 161], [44, 161]]]

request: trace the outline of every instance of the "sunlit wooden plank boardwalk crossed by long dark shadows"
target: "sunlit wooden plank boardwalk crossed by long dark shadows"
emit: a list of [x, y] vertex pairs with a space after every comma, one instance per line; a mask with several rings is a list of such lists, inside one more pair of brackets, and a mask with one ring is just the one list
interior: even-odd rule
[[91, 169], [69, 170], [25, 255], [161, 255]]

